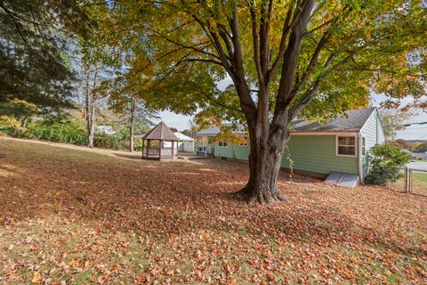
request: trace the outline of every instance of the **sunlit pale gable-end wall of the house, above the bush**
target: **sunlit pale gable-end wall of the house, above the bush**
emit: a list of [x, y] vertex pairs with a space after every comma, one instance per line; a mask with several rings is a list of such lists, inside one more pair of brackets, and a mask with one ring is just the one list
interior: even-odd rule
[[[378, 115], [378, 112], [375, 111], [372, 113], [372, 115], [367, 119], [367, 122], [365, 125], [360, 129], [360, 134], [362, 137], [365, 137], [366, 145], [367, 145], [367, 153], [369, 153], [369, 150], [375, 146], [377, 143], [383, 143], [384, 142], [384, 131], [383, 131], [383, 125], [381, 123], [380, 116]], [[369, 161], [366, 156], [361, 157], [362, 161], [362, 169], [363, 169], [363, 175], [367, 175], [367, 172], [369, 171]]]

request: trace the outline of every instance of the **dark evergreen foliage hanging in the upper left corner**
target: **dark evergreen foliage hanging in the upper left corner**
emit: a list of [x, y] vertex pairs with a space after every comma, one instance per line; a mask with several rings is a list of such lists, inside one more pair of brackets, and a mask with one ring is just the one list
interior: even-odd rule
[[87, 23], [76, 1], [0, 1], [0, 103], [72, 106], [69, 39]]

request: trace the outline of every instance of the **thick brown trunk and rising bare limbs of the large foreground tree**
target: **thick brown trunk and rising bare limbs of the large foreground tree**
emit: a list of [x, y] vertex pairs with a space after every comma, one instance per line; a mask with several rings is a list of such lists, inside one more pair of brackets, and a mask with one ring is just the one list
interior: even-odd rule
[[[260, 11], [258, 11], [257, 5], [247, 4], [251, 15], [254, 67], [257, 76], [256, 87], [258, 90], [256, 94], [258, 100], [256, 101], [253, 97], [254, 94], [251, 93], [252, 88], [250, 88], [253, 83], [248, 82], [245, 71], [246, 64], [244, 64], [244, 53], [242, 52], [240, 38], [238, 4], [234, 3], [232, 12], [227, 17], [229, 28], [225, 28], [220, 22], [216, 26], [212, 24], [211, 20], [216, 21], [214, 17], [204, 22], [198, 15], [189, 12], [208, 34], [215, 51], [218, 53], [216, 59], [221, 61], [220, 65], [230, 75], [236, 87], [240, 108], [246, 118], [251, 142], [250, 175], [246, 186], [238, 193], [246, 195], [249, 204], [253, 204], [255, 201], [264, 204], [282, 199], [278, 191], [278, 174], [285, 144], [289, 140], [289, 125], [317, 92], [319, 79], [309, 91], [302, 94], [302, 99], [298, 98], [298, 93], [306, 82], [305, 78], [312, 71], [311, 66], [317, 63], [319, 49], [325, 45], [327, 35], [322, 37], [318, 44], [309, 67], [307, 67], [308, 73], [304, 73], [301, 79], [296, 77], [299, 54], [304, 38], [309, 35], [307, 27], [314, 4], [315, 0], [290, 2], [275, 59], [271, 58], [272, 53], [269, 44], [273, 1], [261, 4]], [[206, 5], [206, 9], [209, 10], [210, 8]], [[257, 17], [257, 15], [261, 15], [261, 17]], [[330, 62], [332, 60], [326, 61], [325, 68]], [[279, 66], [281, 69], [278, 68]], [[280, 70], [280, 80], [276, 100], [271, 101], [270, 85], [278, 70]], [[297, 99], [298, 101], [296, 101]], [[275, 102], [272, 109], [270, 102]]]

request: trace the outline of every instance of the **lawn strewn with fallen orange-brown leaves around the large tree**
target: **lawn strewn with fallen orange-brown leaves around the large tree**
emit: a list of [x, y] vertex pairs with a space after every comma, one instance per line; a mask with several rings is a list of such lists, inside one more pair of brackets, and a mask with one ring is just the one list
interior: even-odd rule
[[427, 197], [282, 174], [288, 201], [249, 208], [246, 178], [0, 138], [0, 283], [427, 281]]

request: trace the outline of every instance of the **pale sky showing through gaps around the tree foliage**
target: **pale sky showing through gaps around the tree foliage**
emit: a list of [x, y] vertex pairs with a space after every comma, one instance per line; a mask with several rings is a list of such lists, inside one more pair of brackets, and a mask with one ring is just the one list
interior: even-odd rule
[[[231, 84], [230, 77], [223, 79], [218, 82], [217, 86], [219, 89], [223, 90], [225, 87]], [[383, 94], [372, 94], [371, 95], [371, 104], [373, 106], [379, 106], [381, 102], [385, 99], [385, 95]], [[407, 104], [410, 102], [410, 98], [406, 98], [403, 100], [403, 104]], [[411, 123], [413, 122], [427, 122], [427, 112], [422, 110], [412, 110], [415, 113], [415, 117], [411, 119]], [[171, 111], [162, 111], [158, 113], [160, 119], [156, 122], [160, 122], [163, 120], [167, 126], [175, 127], [179, 131], [183, 131], [189, 128], [189, 120], [191, 120], [192, 116], [184, 116], [181, 114], [175, 114]], [[421, 126], [408, 126], [404, 131], [398, 133], [399, 139], [406, 140], [427, 140], [427, 125]]]

